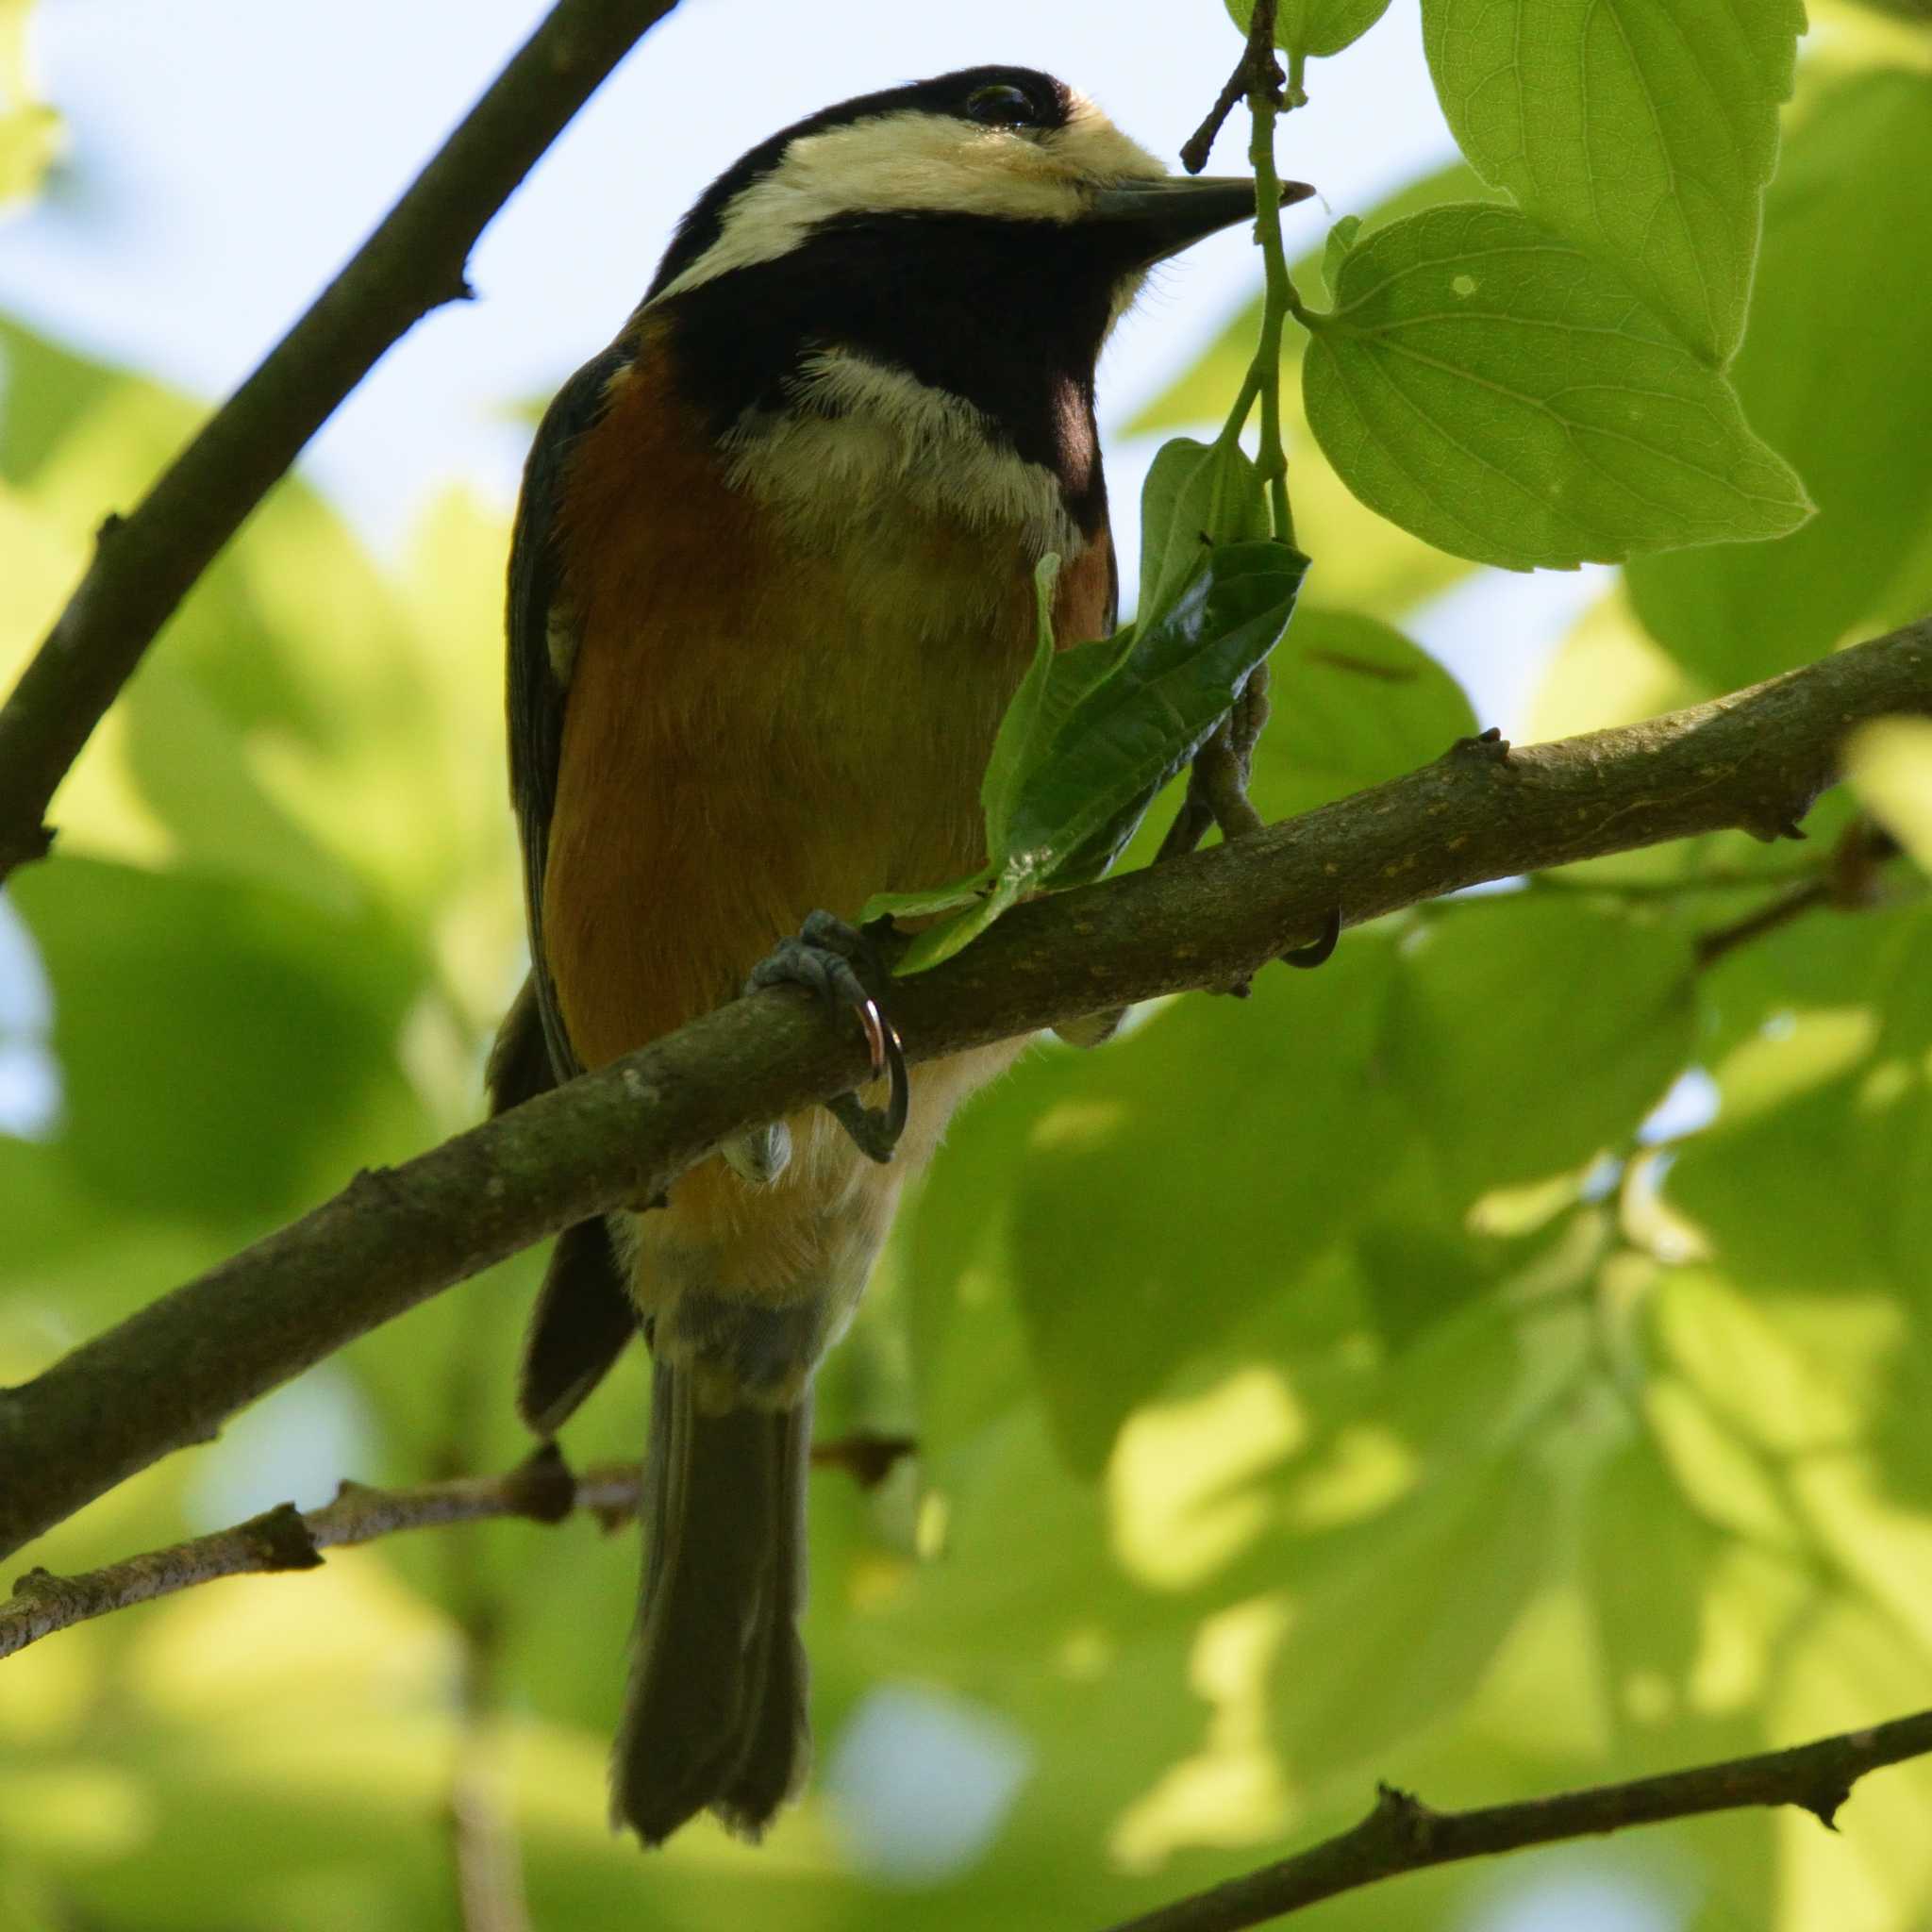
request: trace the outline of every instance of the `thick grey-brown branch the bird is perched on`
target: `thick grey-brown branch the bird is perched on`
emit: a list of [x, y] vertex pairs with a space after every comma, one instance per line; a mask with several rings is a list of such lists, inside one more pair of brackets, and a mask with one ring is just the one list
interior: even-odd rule
[[[914, 1061], [1231, 985], [1323, 933], [1486, 879], [1743, 827], [1777, 837], [1855, 724], [1932, 713], [1932, 620], [1619, 730], [1422, 771], [1209, 852], [1018, 906], [902, 981]], [[556, 1229], [653, 1202], [726, 1136], [866, 1078], [794, 991], [707, 1014], [334, 1200], [0, 1391], [0, 1555], [255, 1397]]]

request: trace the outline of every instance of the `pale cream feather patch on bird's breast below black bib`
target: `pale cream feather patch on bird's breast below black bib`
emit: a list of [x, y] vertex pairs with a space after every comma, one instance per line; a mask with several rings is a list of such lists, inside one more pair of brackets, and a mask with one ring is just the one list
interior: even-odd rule
[[850, 350], [815, 350], [792, 408], [724, 439], [730, 481], [810, 541], [837, 545], [881, 518], [1014, 531], [1034, 556], [1086, 549], [1059, 477], [1007, 448], [983, 410]]

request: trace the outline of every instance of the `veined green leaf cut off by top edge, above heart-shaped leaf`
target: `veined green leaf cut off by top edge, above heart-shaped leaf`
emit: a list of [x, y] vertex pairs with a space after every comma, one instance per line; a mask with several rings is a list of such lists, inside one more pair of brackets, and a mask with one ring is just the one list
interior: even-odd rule
[[1803, 0], [1422, 0], [1457, 145], [1704, 361], [1745, 332]]

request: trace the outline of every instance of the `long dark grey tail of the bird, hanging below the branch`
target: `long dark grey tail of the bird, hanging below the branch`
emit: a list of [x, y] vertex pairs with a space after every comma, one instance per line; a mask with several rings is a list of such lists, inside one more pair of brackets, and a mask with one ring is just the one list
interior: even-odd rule
[[657, 1845], [707, 1806], [755, 1837], [806, 1776], [806, 1461], [811, 1399], [697, 1412], [651, 1376], [643, 1611], [611, 1814]]

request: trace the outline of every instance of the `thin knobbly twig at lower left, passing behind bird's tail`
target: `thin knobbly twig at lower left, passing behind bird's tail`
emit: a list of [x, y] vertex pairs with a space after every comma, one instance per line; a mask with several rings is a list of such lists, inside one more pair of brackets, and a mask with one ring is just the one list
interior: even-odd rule
[[[910, 1435], [856, 1430], [811, 1445], [815, 1468], [844, 1470], [862, 1490], [877, 1488], [914, 1453]], [[554, 1443], [545, 1443], [506, 1476], [456, 1476], [410, 1490], [369, 1490], [344, 1482], [336, 1499], [307, 1513], [282, 1503], [232, 1530], [195, 1536], [166, 1549], [108, 1563], [79, 1577], [33, 1569], [15, 1578], [14, 1596], [0, 1602], [0, 1658], [43, 1636], [151, 1604], [220, 1577], [259, 1577], [269, 1571], [317, 1569], [325, 1549], [369, 1544], [402, 1530], [439, 1530], [452, 1522], [491, 1522], [524, 1517], [562, 1522], [583, 1511], [616, 1528], [638, 1513], [643, 1470], [636, 1463], [603, 1463], [572, 1474]]]

